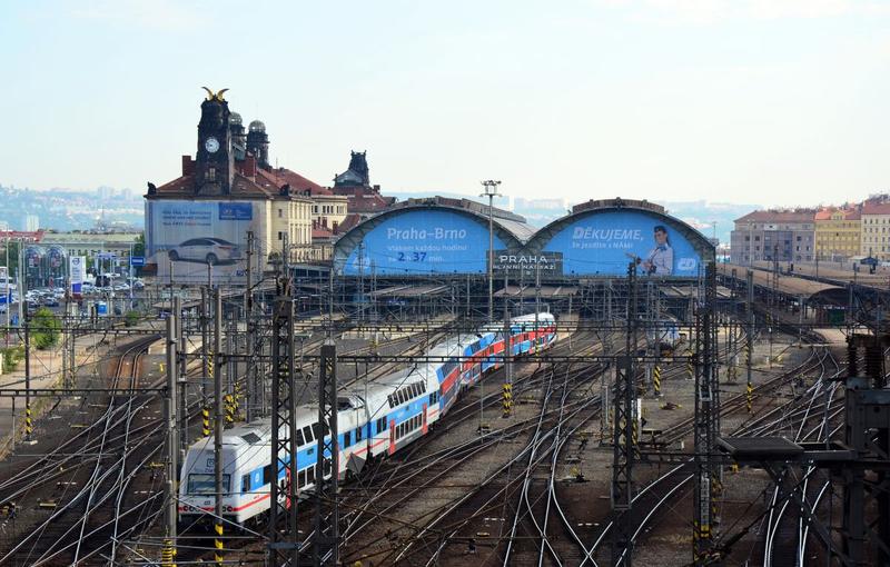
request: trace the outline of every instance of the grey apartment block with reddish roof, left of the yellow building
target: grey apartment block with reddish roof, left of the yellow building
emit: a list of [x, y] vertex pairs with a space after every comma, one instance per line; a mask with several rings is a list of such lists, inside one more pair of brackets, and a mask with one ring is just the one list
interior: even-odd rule
[[815, 209], [756, 210], [735, 219], [730, 235], [733, 263], [813, 261]]

